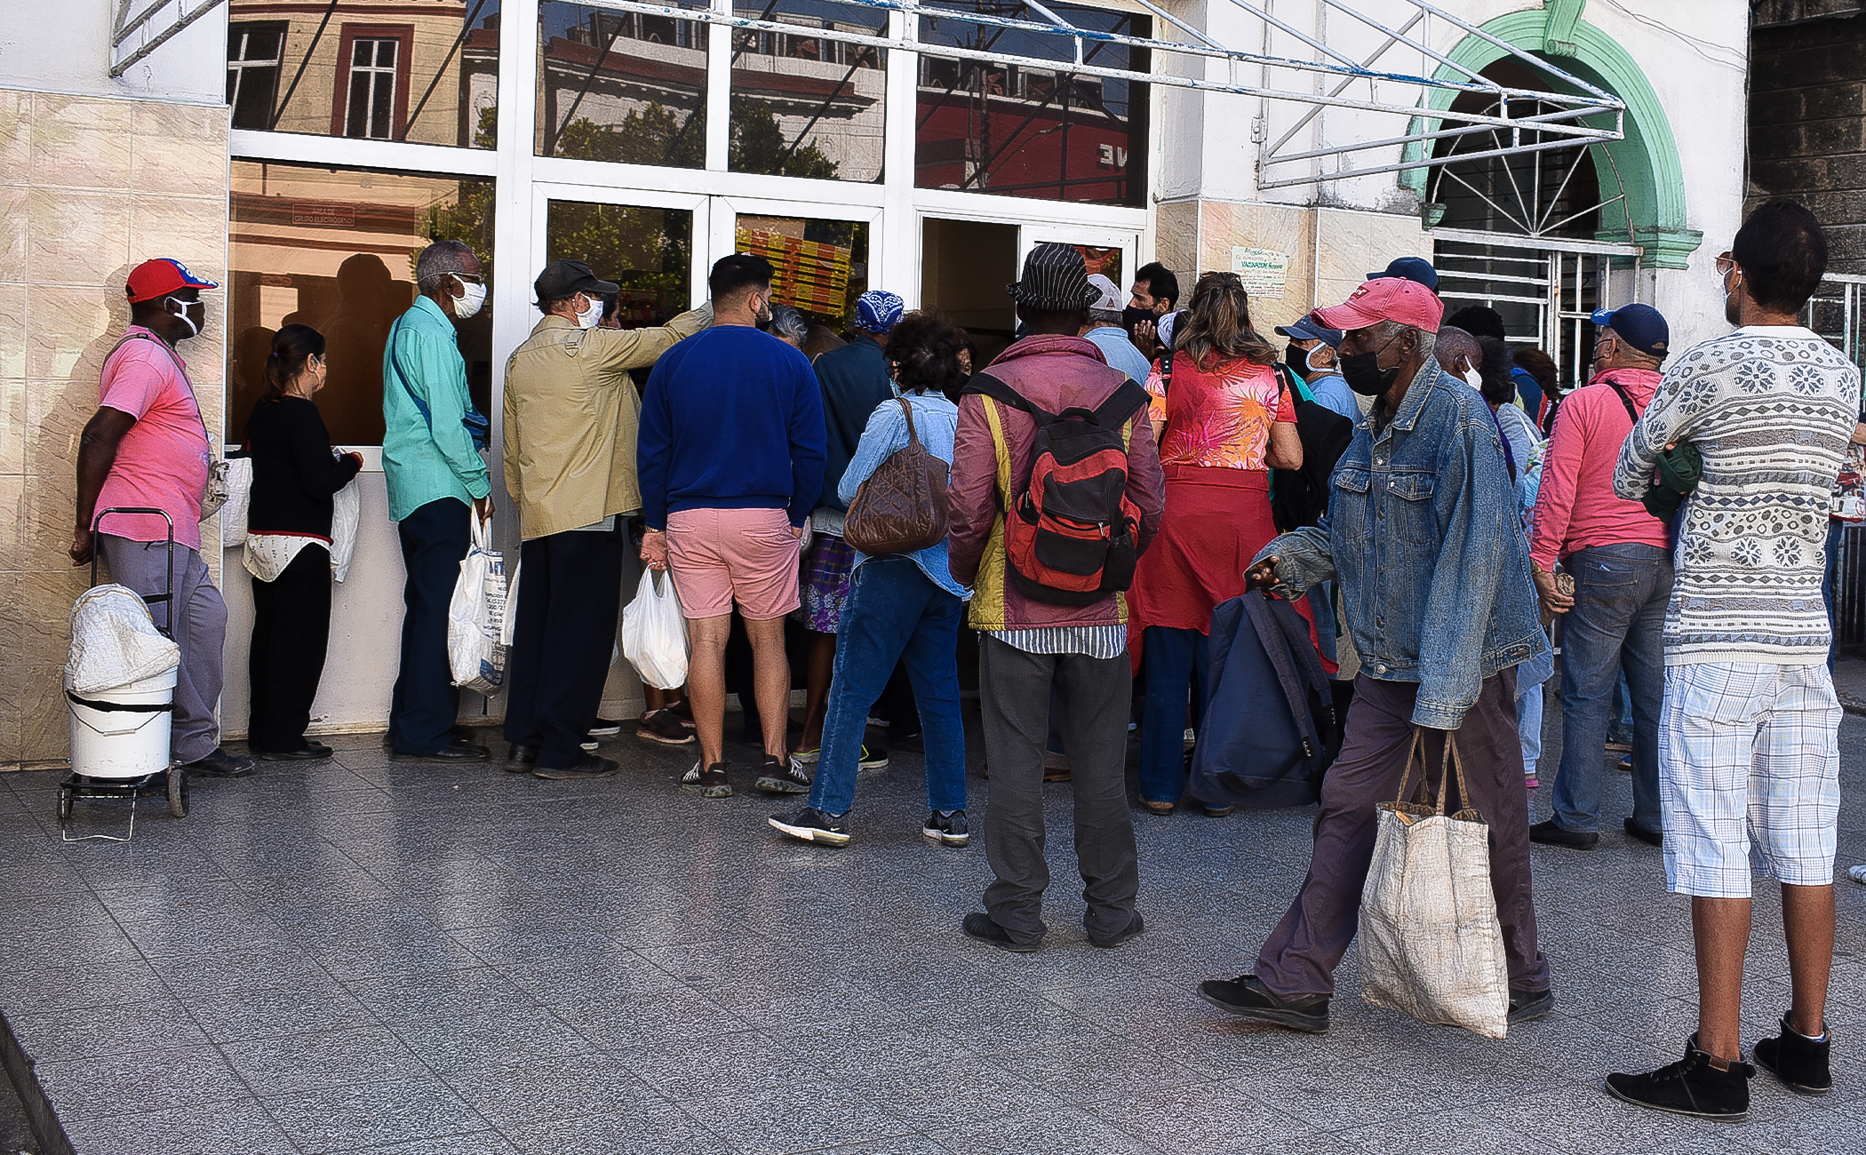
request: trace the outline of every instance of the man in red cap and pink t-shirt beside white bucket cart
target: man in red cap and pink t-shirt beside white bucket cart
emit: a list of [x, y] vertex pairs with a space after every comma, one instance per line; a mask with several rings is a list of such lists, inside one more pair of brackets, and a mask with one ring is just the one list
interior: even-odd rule
[[[159, 623], [172, 621], [181, 647], [175, 679], [175, 718], [170, 752], [190, 774], [241, 778], [250, 758], [220, 748], [220, 647], [228, 608], [202, 562], [202, 496], [213, 446], [175, 345], [202, 332], [207, 306], [202, 289], [218, 289], [166, 257], [144, 261], [129, 274], [131, 325], [104, 358], [97, 412], [78, 444], [78, 508], [71, 562], [103, 556], [110, 578], [142, 597], [170, 595], [149, 606]], [[155, 513], [106, 513], [116, 508]], [[168, 534], [175, 549], [170, 558]]]

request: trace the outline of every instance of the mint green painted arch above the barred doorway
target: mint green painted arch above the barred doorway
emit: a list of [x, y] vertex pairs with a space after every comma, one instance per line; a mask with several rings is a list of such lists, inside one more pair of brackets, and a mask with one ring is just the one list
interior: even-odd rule
[[[1566, 73], [1575, 73], [1616, 97], [1625, 106], [1625, 140], [1590, 146], [1599, 172], [1620, 174], [1622, 188], [1627, 194], [1627, 213], [1633, 218], [1633, 241], [1646, 248], [1646, 265], [1659, 269], [1683, 269], [1687, 257], [1698, 248], [1704, 235], [1685, 228], [1685, 170], [1678, 160], [1678, 140], [1672, 136], [1672, 121], [1659, 103], [1659, 93], [1651, 90], [1646, 73], [1627, 56], [1625, 49], [1605, 32], [1575, 21], [1571, 39], [1553, 41], [1549, 52], [1549, 9], [1511, 11], [1487, 21], [1485, 34], [1513, 45], [1525, 52], [1549, 56], [1549, 63]], [[1448, 56], [1472, 73], [1482, 71], [1508, 52], [1497, 45], [1467, 35]], [[1439, 69], [1441, 80], [1463, 80], [1465, 75], [1444, 65]], [[1551, 90], [1579, 91], [1575, 86], [1554, 80]], [[1427, 103], [1435, 110], [1450, 108], [1455, 91], [1435, 90]], [[1414, 127], [1426, 118], [1414, 118]], [[1424, 155], [1424, 146], [1409, 144], [1407, 160]], [[1411, 168], [1401, 174], [1401, 181], [1424, 196], [1427, 170]], [[1614, 230], [1618, 237], [1618, 230]], [[1616, 239], [1603, 233], [1603, 239]]]

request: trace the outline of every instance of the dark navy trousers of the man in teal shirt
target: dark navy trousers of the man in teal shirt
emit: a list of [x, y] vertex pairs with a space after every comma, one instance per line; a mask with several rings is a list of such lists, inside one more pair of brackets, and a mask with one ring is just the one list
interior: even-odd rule
[[461, 692], [448, 664], [448, 603], [472, 545], [472, 509], [455, 498], [427, 502], [396, 524], [401, 564], [401, 670], [388, 705], [388, 735], [397, 754], [437, 754], [453, 741]]

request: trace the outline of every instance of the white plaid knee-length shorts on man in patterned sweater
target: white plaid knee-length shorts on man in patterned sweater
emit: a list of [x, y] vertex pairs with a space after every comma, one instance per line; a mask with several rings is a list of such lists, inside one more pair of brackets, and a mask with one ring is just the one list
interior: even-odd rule
[[1827, 666], [1666, 666], [1659, 800], [1676, 894], [1748, 898], [1750, 842], [1765, 877], [1831, 884], [1840, 700]]

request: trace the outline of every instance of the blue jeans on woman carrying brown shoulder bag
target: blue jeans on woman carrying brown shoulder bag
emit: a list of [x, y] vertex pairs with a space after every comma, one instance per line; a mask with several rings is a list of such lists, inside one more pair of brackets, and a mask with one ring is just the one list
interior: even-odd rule
[[927, 748], [927, 810], [965, 810], [965, 726], [959, 722], [959, 612], [911, 558], [870, 558], [855, 567], [836, 634], [836, 674], [823, 715], [810, 806], [847, 814], [862, 759], [868, 711], [907, 661]]

